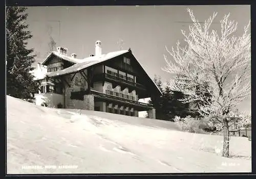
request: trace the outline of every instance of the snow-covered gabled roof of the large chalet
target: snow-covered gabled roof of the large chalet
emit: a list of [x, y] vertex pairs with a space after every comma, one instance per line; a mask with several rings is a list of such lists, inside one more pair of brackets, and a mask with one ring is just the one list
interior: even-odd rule
[[[119, 55], [123, 55], [123, 54], [125, 54], [127, 52], [130, 52], [130, 51], [122, 50], [122, 51], [110, 52], [108, 54], [102, 54], [100, 56], [92, 56], [92, 57], [87, 57], [87, 58], [83, 58], [83, 59], [72, 58], [72, 57], [69, 57], [69, 56], [66, 56], [66, 55], [61, 55], [58, 52], [52, 52], [51, 54], [49, 54], [47, 56], [47, 58], [42, 62], [42, 64], [45, 64], [45, 62], [50, 58], [51, 55], [55, 55], [55, 56], [58, 56], [59, 58], [61, 58], [63, 60], [67, 60], [67, 61], [75, 63], [74, 65], [70, 66], [69, 68], [66, 68], [66, 69], [63, 69], [63, 70], [59, 70], [59, 71], [56, 71], [56, 72], [49, 72], [49, 73], [45, 74], [45, 77], [46, 76], [54, 77], [54, 76], [61, 76], [61, 75], [65, 75], [65, 74], [71, 74], [71, 73], [78, 72], [78, 71], [80, 71], [82, 69], [88, 68], [89, 66], [92, 66], [94, 64], [98, 64], [98, 63], [104, 62], [106, 60], [110, 60], [110, 59], [112, 59], [114, 57], [117, 57]], [[133, 55], [133, 57], [135, 58], [134, 55]], [[137, 59], [136, 59], [136, 61], [139, 63], [139, 61]], [[142, 67], [142, 65], [140, 63], [139, 63], [139, 65], [143, 69], [143, 67]], [[146, 73], [146, 71], [144, 69], [143, 69], [143, 71], [148, 76], [148, 78], [150, 78], [150, 76]], [[38, 79], [39, 78], [37, 78], [36, 80], [38, 80]], [[43, 79], [43, 78], [40, 78], [40, 79]], [[160, 91], [160, 89], [158, 88], [158, 86], [154, 82], [154, 80], [152, 80], [151, 78], [150, 78], [150, 80], [155, 84], [155, 86], [158, 89], [159, 93], [162, 95], [162, 92]]]

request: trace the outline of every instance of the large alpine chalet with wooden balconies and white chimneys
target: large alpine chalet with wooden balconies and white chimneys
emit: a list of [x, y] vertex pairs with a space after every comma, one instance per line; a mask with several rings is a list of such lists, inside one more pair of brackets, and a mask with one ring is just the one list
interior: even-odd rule
[[97, 110], [138, 117], [147, 110], [155, 119], [155, 108], [139, 99], [154, 98], [162, 93], [146, 74], [131, 49], [101, 54], [101, 42], [95, 42], [95, 55], [78, 59], [67, 56], [67, 49], [57, 52], [37, 64], [34, 70], [38, 92], [36, 105]]

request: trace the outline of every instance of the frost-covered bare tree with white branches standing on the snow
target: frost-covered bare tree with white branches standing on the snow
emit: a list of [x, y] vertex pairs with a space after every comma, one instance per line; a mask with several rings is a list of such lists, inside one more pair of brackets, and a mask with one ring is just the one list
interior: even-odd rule
[[170, 80], [170, 88], [186, 95], [180, 100], [184, 103], [201, 101], [201, 115], [210, 119], [210, 125], [223, 130], [222, 156], [228, 157], [229, 126], [234, 121], [238, 126], [243, 126], [241, 123], [247, 122], [249, 118], [236, 118], [232, 110], [251, 92], [250, 22], [244, 27], [243, 35], [237, 37], [234, 35], [237, 23], [228, 19], [229, 14], [225, 15], [220, 20], [221, 32], [217, 34], [216, 30], [210, 29], [217, 13], [202, 24], [195, 18], [193, 11], [187, 11], [192, 25], [188, 33], [181, 30], [187, 46], [180, 47], [178, 41], [177, 48], [172, 48], [172, 51], [165, 47], [172, 60], [164, 55], [166, 66], [163, 70], [176, 74]]

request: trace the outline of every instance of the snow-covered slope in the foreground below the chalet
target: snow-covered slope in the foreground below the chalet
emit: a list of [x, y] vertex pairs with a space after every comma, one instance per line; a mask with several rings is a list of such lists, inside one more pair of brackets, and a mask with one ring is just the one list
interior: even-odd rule
[[78, 115], [7, 96], [9, 174], [251, 172], [251, 142], [232, 137], [226, 159], [221, 140], [178, 131], [172, 122], [86, 110]]

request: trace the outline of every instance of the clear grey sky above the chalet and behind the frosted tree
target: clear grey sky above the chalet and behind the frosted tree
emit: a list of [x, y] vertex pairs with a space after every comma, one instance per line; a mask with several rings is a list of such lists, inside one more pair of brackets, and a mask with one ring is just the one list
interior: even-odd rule
[[[94, 54], [95, 41], [100, 40], [103, 54], [131, 48], [152, 79], [159, 75], [166, 82], [172, 76], [161, 70], [163, 55], [167, 55], [165, 46], [171, 49], [177, 40], [184, 39], [181, 29], [188, 30], [190, 25], [187, 8], [199, 21], [217, 12], [212, 24], [217, 30], [219, 21], [230, 13], [230, 19], [238, 22], [238, 35], [250, 20], [249, 5], [28, 7], [26, 23], [33, 35], [28, 47], [37, 54], [35, 66], [48, 55], [50, 36], [56, 46], [67, 48], [68, 55], [76, 53], [77, 58]], [[249, 110], [251, 98], [238, 108]]]

